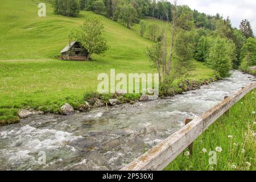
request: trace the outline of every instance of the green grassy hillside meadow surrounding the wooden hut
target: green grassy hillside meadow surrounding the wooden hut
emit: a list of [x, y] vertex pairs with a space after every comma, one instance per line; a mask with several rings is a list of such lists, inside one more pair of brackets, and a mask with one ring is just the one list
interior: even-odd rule
[[[57, 113], [69, 102], [79, 105], [85, 92], [97, 90], [99, 73], [156, 73], [146, 58], [151, 40], [139, 35], [138, 24], [131, 30], [118, 22], [81, 11], [79, 18], [53, 14], [48, 1], [47, 16], [38, 17], [38, 0], [3, 1], [0, 11], [0, 108], [34, 108]], [[68, 44], [68, 34], [79, 27], [84, 16], [96, 15], [105, 24], [110, 46], [104, 56], [92, 61], [55, 59]], [[146, 19], [164, 26], [165, 22]], [[212, 69], [195, 61], [191, 79], [213, 77]], [[15, 117], [15, 115], [14, 115]]]

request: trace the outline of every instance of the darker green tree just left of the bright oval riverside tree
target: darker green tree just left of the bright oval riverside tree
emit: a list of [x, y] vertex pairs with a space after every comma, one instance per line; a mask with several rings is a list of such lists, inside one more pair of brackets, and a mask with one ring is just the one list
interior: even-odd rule
[[212, 38], [210, 36], [201, 36], [197, 43], [195, 59], [197, 61], [207, 61], [209, 57], [209, 50], [212, 46]]

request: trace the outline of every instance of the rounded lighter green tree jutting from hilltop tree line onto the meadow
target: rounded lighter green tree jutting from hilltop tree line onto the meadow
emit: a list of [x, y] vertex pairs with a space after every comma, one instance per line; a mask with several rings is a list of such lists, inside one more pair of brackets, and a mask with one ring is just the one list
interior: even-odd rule
[[118, 20], [123, 24], [123, 26], [130, 28], [133, 25], [136, 17], [137, 17], [137, 11], [134, 9], [133, 6], [128, 4], [128, 5], [123, 5], [121, 12], [118, 16]]

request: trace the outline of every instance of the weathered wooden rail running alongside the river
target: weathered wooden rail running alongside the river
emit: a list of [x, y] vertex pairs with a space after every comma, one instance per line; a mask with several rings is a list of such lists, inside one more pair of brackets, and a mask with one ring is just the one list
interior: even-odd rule
[[164, 169], [164, 167], [170, 164], [185, 148], [189, 147], [214, 121], [255, 88], [256, 83], [242, 88], [242, 90], [233, 96], [225, 98], [220, 104], [217, 104], [200, 117], [193, 119], [179, 131], [163, 140], [163, 142], [154, 148], [151, 148], [146, 154], [123, 167], [121, 171], [160, 171]]

